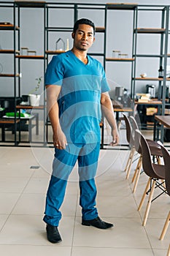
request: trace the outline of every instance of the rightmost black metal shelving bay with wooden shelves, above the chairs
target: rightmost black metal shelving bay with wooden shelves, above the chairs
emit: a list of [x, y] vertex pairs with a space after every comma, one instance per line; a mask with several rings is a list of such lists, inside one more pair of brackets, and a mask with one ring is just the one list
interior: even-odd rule
[[[140, 12], [160, 12], [161, 13], [161, 27], [158, 28], [139, 28], [139, 13]], [[146, 77], [140, 78], [136, 77], [136, 61], [140, 58], [144, 59], [159, 59], [159, 67], [166, 67], [167, 65], [167, 56], [168, 56], [168, 31], [169, 31], [169, 6], [164, 5], [138, 5], [136, 7], [136, 20], [135, 20], [135, 28], [134, 28], [134, 72], [132, 75], [132, 86], [131, 86], [131, 97], [134, 101], [134, 97], [136, 94], [136, 89], [139, 85], [136, 85], [138, 81], [157, 81], [158, 82], [158, 105], [149, 104], [150, 107], [156, 107], [158, 109], [158, 114], [163, 115], [166, 107], [166, 83], [169, 81], [169, 78], [166, 78], [166, 69], [164, 68], [163, 78], [158, 77]], [[139, 34], [150, 34], [151, 36], [154, 34], [160, 35], [160, 51], [156, 54], [140, 54], [137, 52], [138, 45], [138, 35]], [[163, 87], [163, 90], [162, 90]], [[161, 102], [161, 104], [160, 104]], [[147, 103], [144, 103], [146, 105]], [[163, 127], [161, 128], [161, 140], [163, 141]]]

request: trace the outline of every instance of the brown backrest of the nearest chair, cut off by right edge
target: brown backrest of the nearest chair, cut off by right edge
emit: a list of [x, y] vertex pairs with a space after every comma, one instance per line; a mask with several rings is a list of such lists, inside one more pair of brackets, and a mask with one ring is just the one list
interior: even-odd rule
[[165, 164], [165, 181], [166, 181], [166, 190], [170, 195], [170, 154], [169, 151], [163, 146], [163, 144], [159, 141], [159, 145], [162, 149], [163, 161]]

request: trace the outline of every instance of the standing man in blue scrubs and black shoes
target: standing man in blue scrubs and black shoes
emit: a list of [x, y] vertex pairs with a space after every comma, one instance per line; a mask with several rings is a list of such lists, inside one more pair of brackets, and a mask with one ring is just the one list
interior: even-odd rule
[[72, 32], [72, 50], [53, 56], [45, 74], [55, 157], [44, 221], [47, 223], [47, 239], [52, 243], [61, 241], [59, 209], [69, 174], [76, 162], [79, 165], [82, 225], [101, 229], [113, 227], [98, 217], [95, 207], [94, 177], [100, 148], [101, 108], [112, 128], [112, 146], [117, 145], [119, 136], [104, 69], [99, 61], [87, 56], [95, 40], [94, 34], [92, 21], [85, 18], [77, 20]]

